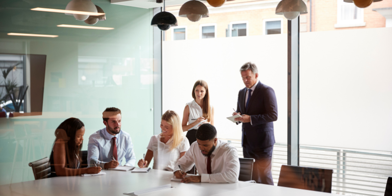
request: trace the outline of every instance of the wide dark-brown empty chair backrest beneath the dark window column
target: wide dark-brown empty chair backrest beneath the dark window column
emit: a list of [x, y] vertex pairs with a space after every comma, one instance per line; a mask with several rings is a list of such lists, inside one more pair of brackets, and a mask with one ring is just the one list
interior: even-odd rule
[[333, 170], [282, 165], [278, 186], [331, 193]]

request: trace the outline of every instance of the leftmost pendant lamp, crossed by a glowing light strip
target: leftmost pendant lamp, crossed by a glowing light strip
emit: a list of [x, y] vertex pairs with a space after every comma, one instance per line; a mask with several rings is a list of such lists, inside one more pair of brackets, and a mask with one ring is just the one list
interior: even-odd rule
[[[72, 10], [72, 11], [81, 11], [81, 12], [95, 12], [97, 13], [98, 10], [91, 0], [71, 0], [65, 10]], [[66, 15], [73, 15], [73, 17], [78, 21], [85, 21], [89, 18], [89, 15], [83, 14], [66, 14]]]

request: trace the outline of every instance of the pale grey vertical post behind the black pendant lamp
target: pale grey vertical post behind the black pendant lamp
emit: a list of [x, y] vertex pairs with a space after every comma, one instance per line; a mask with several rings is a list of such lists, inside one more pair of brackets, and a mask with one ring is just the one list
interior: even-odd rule
[[[153, 16], [161, 12], [161, 7], [153, 8]], [[161, 133], [162, 116], [162, 31], [152, 27], [153, 39], [153, 74], [154, 74], [154, 135]]]

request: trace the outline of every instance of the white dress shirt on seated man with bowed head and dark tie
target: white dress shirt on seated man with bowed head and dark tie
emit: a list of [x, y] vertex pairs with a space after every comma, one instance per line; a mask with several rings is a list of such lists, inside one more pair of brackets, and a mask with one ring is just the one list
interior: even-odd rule
[[229, 143], [218, 140], [217, 147], [211, 154], [211, 173], [207, 173], [207, 157], [201, 153], [197, 141], [194, 142], [185, 155], [175, 164], [174, 172], [189, 171], [196, 164], [197, 172], [201, 175], [201, 182], [234, 183], [240, 175], [240, 160], [237, 148]]

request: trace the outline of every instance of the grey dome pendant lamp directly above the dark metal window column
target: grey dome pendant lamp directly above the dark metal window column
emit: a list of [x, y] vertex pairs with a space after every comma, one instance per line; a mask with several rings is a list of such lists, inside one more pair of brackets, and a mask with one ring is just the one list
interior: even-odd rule
[[300, 14], [306, 13], [308, 8], [302, 0], [282, 0], [275, 10], [275, 14], [283, 15], [287, 20], [296, 19]]

